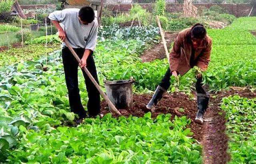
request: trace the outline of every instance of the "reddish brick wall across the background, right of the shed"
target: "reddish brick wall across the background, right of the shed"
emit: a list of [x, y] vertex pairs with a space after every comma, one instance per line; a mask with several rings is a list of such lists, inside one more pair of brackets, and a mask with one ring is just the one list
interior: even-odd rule
[[[148, 4], [139, 4], [142, 6], [142, 8], [147, 9], [148, 11], [152, 11], [154, 8], [154, 4], [148, 3]], [[227, 13], [232, 14], [236, 17], [241, 16], [248, 16], [251, 6], [250, 4], [194, 4], [196, 7], [206, 7], [210, 8], [213, 5], [219, 5], [224, 10], [226, 10]], [[118, 12], [127, 12], [131, 8], [131, 4], [111, 4], [106, 6], [108, 10], [117, 11]], [[166, 4], [166, 10], [168, 12], [182, 12], [183, 11], [183, 4], [174, 4], [174, 3], [167, 3]], [[254, 8], [254, 11], [252, 12], [251, 16], [256, 16], [256, 8]]]

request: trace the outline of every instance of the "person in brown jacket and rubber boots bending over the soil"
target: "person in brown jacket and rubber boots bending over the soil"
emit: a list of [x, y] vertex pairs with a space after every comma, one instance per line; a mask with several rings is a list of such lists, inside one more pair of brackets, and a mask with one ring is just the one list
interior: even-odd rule
[[[202, 24], [195, 24], [192, 28], [181, 31], [170, 53], [170, 68], [168, 68], [164, 78], [156, 88], [156, 91], [146, 106], [152, 110], [157, 102], [161, 100], [164, 92], [170, 87], [170, 77], [173, 75], [183, 76], [194, 66], [202, 71], [208, 68], [210, 62], [210, 53], [212, 50], [212, 39], [206, 34], [206, 29]], [[202, 88], [202, 74], [196, 75], [196, 91], [198, 112], [196, 120], [203, 122], [203, 114], [206, 111], [209, 102], [209, 95]]]

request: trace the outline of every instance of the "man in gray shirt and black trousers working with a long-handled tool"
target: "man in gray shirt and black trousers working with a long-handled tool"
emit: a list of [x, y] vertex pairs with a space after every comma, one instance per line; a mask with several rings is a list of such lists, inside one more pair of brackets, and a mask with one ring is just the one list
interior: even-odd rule
[[[69, 104], [71, 112], [78, 114], [79, 119], [77, 123], [79, 124], [86, 117], [86, 111], [82, 106], [78, 89], [78, 65], [81, 68], [86, 67], [98, 82], [96, 66], [92, 56], [96, 46], [98, 22], [95, 18], [94, 10], [90, 7], [55, 11], [49, 15], [49, 19], [58, 29], [59, 38], [62, 41], [66, 39], [82, 61], [82, 64], [78, 64], [65, 43], [62, 43], [62, 60], [68, 88]], [[100, 114], [100, 93], [86, 73], [83, 70], [82, 72], [89, 98], [87, 103], [89, 116], [95, 117]]]

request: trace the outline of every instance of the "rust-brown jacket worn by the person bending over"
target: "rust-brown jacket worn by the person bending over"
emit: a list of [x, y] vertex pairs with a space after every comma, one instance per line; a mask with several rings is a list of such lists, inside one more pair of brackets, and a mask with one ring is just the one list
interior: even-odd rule
[[183, 76], [194, 66], [198, 66], [203, 71], [208, 68], [210, 62], [210, 53], [212, 50], [212, 39], [207, 35], [202, 45], [195, 50], [194, 59], [190, 66], [190, 58], [192, 54], [191, 28], [187, 28], [179, 32], [172, 51], [170, 52], [170, 70], [176, 70], [178, 74]]

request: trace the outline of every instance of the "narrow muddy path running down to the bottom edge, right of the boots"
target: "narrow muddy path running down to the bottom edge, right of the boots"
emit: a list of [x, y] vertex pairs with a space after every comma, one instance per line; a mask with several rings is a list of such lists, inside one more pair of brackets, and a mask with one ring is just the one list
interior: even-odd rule
[[228, 136], [226, 135], [225, 112], [220, 109], [222, 98], [231, 95], [255, 98], [256, 92], [247, 88], [234, 87], [228, 91], [218, 92], [211, 96], [209, 108], [204, 116], [203, 156], [205, 164], [224, 164], [230, 160], [228, 154]]

